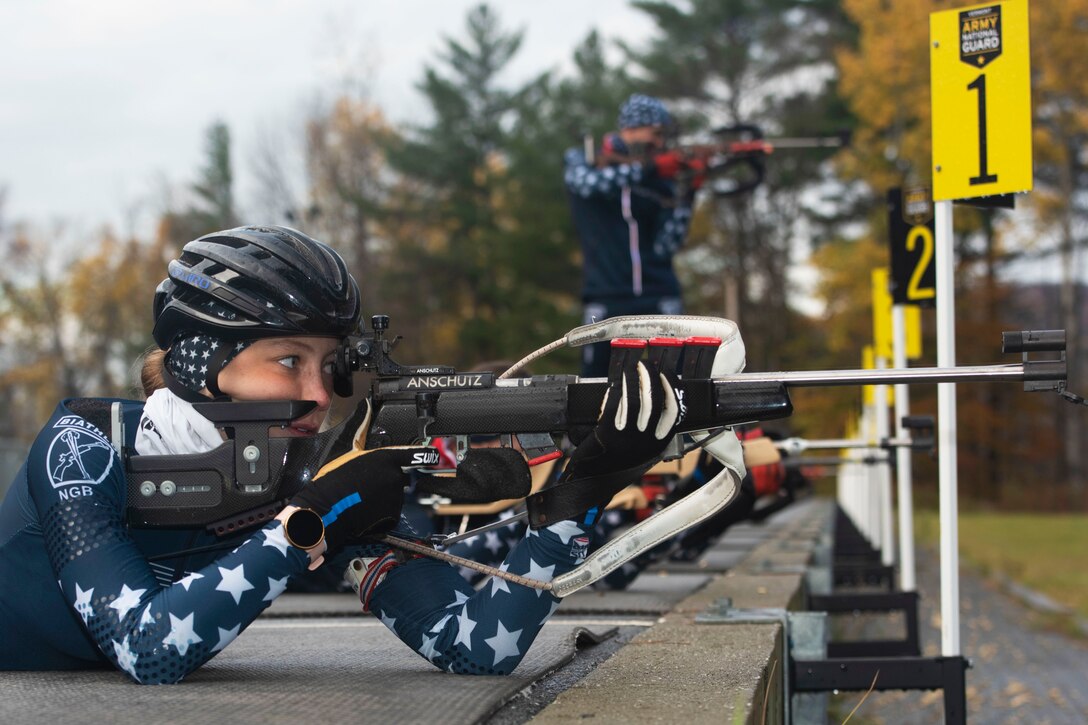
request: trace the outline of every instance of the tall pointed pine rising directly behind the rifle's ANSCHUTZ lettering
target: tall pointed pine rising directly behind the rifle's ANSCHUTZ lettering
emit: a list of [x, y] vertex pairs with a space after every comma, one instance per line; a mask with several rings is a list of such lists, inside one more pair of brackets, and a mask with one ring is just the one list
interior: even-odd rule
[[[505, 292], [517, 281], [496, 260], [510, 225], [503, 208], [505, 151], [516, 90], [499, 75], [521, 45], [494, 11], [469, 12], [465, 41], [447, 37], [438, 67], [428, 65], [419, 84], [432, 121], [416, 125], [390, 147], [392, 168], [411, 184], [391, 199], [392, 213], [425, 221], [434, 231], [428, 245], [412, 243], [415, 258], [398, 248], [398, 261], [412, 271], [417, 315], [428, 319], [430, 354], [459, 361], [493, 358], [496, 320]], [[401, 241], [397, 241], [398, 243]]]

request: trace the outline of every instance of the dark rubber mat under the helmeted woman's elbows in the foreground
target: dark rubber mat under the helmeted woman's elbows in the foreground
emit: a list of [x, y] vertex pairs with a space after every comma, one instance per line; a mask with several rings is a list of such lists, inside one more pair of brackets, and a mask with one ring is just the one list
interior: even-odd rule
[[262, 617], [175, 686], [115, 672], [0, 673], [0, 722], [472, 723], [568, 662], [579, 637], [601, 639], [548, 623], [514, 674], [475, 677], [440, 672], [374, 619]]

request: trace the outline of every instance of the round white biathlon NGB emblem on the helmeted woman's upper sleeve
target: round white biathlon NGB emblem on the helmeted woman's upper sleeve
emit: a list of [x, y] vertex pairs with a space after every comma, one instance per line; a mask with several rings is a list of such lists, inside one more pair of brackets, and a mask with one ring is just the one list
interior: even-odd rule
[[46, 457], [49, 482], [61, 489], [62, 499], [90, 495], [89, 487], [101, 483], [113, 467], [113, 446], [79, 416], [64, 416], [53, 428], [58, 433]]

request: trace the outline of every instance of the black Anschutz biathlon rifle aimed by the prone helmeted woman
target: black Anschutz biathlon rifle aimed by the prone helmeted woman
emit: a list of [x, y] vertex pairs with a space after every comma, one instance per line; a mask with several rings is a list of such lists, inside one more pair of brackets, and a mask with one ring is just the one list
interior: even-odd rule
[[[656, 355], [662, 365], [676, 365], [680, 371], [679, 392], [685, 414], [678, 432], [726, 467], [706, 484], [609, 541], [576, 569], [543, 587], [566, 597], [728, 505], [743, 475], [731, 463], [740, 458], [740, 442], [729, 427], [789, 416], [789, 388], [1019, 381], [1027, 390], [1062, 393], [1066, 379], [1065, 333], [1061, 330], [1004, 333], [1004, 352], [1024, 355], [1018, 364], [743, 373], [743, 342], [729, 320], [621, 317], [576, 328], [495, 377], [458, 372], [446, 366], [401, 366], [391, 357], [396, 339], [386, 336], [387, 329], [388, 318], [375, 316], [369, 331], [341, 347], [336, 365], [342, 374], [337, 377], [343, 380], [343, 373], [354, 371], [373, 374], [372, 403], [363, 402], [329, 431], [309, 439], [269, 438], [269, 426], [286, 425], [305, 415], [312, 408], [308, 402], [198, 404], [217, 426], [233, 431], [231, 440], [206, 454], [126, 457], [128, 523], [135, 527], [203, 526], [220, 534], [260, 525], [274, 516], [325, 460], [363, 440], [372, 447], [405, 445], [432, 437], [467, 440], [473, 434], [498, 434], [507, 440], [516, 437], [534, 463], [555, 457], [557, 437], [596, 422], [608, 381], [510, 374], [560, 346], [579, 347], [607, 340], [651, 341], [639, 347], [639, 354]], [[1035, 353], [1060, 353], [1061, 357], [1028, 359]], [[670, 455], [684, 453], [675, 445]], [[462, 456], [467, 458], [468, 445], [459, 443], [458, 457]], [[548, 491], [545, 488], [527, 500], [529, 525], [533, 528], [569, 517], [561, 505], [549, 500]], [[493, 496], [506, 497], [516, 496], [509, 491]]]

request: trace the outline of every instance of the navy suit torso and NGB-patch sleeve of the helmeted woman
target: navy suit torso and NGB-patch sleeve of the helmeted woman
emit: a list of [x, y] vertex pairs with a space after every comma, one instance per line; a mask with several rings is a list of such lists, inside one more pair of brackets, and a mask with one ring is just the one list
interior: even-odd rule
[[[213, 538], [126, 527], [121, 457], [70, 403], [57, 406], [0, 505], [0, 669], [112, 665], [139, 683], [177, 681], [237, 637], [309, 558], [276, 523], [233, 552], [190, 558], [174, 581], [175, 562], [148, 558]], [[123, 405], [134, 438], [143, 408]]]

